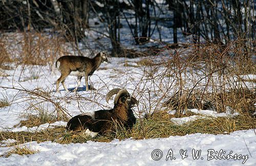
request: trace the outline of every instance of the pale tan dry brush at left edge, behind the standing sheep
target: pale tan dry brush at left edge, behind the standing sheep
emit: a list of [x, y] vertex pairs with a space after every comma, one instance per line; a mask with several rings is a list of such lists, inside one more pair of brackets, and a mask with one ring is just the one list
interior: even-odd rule
[[3, 34], [0, 38], [0, 64], [53, 66], [59, 56], [67, 53], [65, 42], [57, 35], [36, 32]]

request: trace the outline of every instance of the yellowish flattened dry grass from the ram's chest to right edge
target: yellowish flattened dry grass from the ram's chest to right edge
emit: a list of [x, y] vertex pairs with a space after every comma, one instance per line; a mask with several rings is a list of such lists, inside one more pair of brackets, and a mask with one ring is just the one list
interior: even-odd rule
[[199, 118], [196, 121], [183, 125], [177, 125], [162, 118], [150, 118], [137, 123], [131, 132], [126, 132], [125, 130], [122, 130], [123, 132], [117, 132], [116, 138], [125, 139], [133, 137], [134, 139], [147, 139], [176, 135], [183, 136], [194, 133], [228, 134], [237, 130], [253, 129], [255, 125], [255, 118], [247, 115]]

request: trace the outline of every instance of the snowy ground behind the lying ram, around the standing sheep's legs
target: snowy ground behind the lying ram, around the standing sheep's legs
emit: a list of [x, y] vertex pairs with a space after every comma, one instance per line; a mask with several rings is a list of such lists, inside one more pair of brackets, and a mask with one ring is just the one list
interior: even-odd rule
[[[163, 57], [153, 60], [158, 63], [162, 59]], [[77, 93], [72, 91], [67, 93], [62, 85], [59, 88], [60, 93], [55, 91], [55, 82], [60, 76], [55, 67], [51, 71], [48, 66], [26, 66], [22, 72], [21, 65], [16, 68], [13, 66], [13, 69], [5, 70], [6, 76], [0, 79], [0, 86], [2, 87], [0, 88], [0, 99], [10, 103], [8, 107], [0, 108], [0, 130], [18, 131], [19, 127], [14, 129], [13, 126], [24, 120], [26, 118], [24, 115], [40, 114], [41, 112], [38, 110], [56, 115], [56, 108], [53, 103], [61, 106], [68, 113], [68, 116], [112, 108], [113, 99], [108, 104], [105, 101], [105, 95], [113, 88], [126, 88], [140, 102], [139, 106], [134, 108], [137, 115], [162, 109], [160, 108], [161, 103], [173, 95], [173, 87], [176, 85], [177, 77], [170, 72], [167, 74], [173, 77], [169, 77], [166, 74], [168, 70], [164, 66], [156, 68], [154, 66], [141, 66], [137, 63], [140, 60], [141, 58], [110, 58], [111, 63], [102, 63], [94, 75], [90, 77], [91, 83], [89, 84], [93, 84], [96, 90], [85, 91], [84, 79], [82, 79]], [[182, 76], [184, 80], [199, 80], [205, 74], [197, 73]], [[255, 75], [243, 76], [243, 78], [253, 79]], [[191, 89], [195, 82], [186, 81], [185, 87]], [[195, 89], [203, 89], [205, 82], [206, 79], [202, 79]], [[69, 76], [65, 83], [72, 90], [76, 87], [77, 78]], [[244, 83], [244, 86], [248, 88], [256, 86], [254, 82], [249, 80]], [[41, 92], [41, 96], [31, 94], [31, 92]], [[47, 97], [44, 97], [44, 92]], [[214, 110], [192, 109], [191, 112], [217, 117], [229, 115], [229, 109], [227, 108], [227, 113], [220, 114]], [[25, 128], [20, 128], [20, 131], [24, 131]]]

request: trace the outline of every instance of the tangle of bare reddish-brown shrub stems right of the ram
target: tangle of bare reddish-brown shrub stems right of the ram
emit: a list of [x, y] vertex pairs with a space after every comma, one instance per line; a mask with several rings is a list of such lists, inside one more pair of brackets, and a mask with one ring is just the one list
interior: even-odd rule
[[[164, 99], [164, 107], [178, 110], [177, 117], [188, 108], [217, 112], [226, 112], [230, 108], [253, 113], [256, 89], [247, 87], [248, 80], [240, 76], [256, 73], [252, 58], [255, 54], [253, 49], [246, 52], [237, 47], [240, 42], [237, 40], [226, 45], [190, 44], [175, 50], [163, 48], [163, 60], [155, 66], [144, 64], [147, 67], [144, 67], [143, 75], [153, 82], [152, 87], [160, 89], [159, 102]], [[254, 83], [253, 80], [249, 82]], [[156, 105], [160, 107], [161, 104]]]

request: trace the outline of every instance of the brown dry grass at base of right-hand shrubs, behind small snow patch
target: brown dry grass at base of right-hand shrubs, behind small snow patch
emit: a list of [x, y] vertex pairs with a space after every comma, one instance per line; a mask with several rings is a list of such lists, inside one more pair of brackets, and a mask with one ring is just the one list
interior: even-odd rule
[[[188, 93], [176, 93], [163, 106], [172, 110], [203, 109], [226, 112], [227, 107], [237, 112], [252, 114], [255, 111], [256, 89], [230, 89], [223, 93], [194, 92], [187, 98]], [[234, 113], [234, 112], [231, 112]]]

